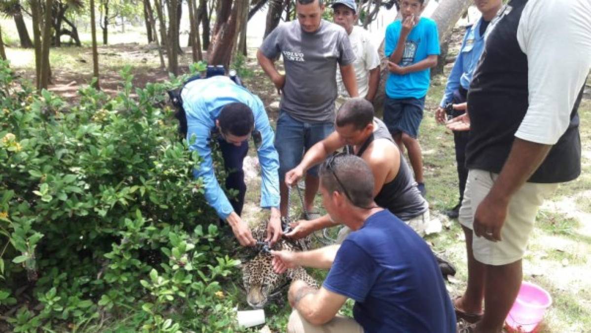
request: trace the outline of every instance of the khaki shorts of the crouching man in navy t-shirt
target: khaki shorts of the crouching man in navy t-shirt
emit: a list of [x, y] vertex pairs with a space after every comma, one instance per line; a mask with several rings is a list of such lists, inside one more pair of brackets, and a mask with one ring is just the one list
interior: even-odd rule
[[324, 325], [312, 325], [301, 318], [297, 310], [291, 311], [290, 321], [287, 322], [288, 333], [363, 333], [361, 325], [353, 318], [336, 316]]

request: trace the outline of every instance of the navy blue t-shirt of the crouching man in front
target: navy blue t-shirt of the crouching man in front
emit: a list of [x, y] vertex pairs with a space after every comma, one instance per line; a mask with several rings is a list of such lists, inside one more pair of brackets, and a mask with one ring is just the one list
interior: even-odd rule
[[366, 333], [456, 332], [456, 315], [433, 252], [387, 209], [343, 241], [324, 288], [355, 300]]

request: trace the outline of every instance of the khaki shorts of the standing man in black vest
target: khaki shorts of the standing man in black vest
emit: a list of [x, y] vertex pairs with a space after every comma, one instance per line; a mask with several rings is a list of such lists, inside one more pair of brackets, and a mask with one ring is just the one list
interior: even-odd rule
[[[473, 229], [476, 208], [491, 190], [498, 174], [483, 170], [470, 170], [464, 191], [464, 200], [458, 218], [464, 227]], [[507, 216], [501, 229], [501, 241], [491, 242], [484, 237], [472, 238], [474, 258], [480, 263], [501, 266], [521, 259], [527, 240], [534, 228], [535, 215], [544, 199], [558, 187], [557, 183], [525, 183], [509, 201]]]

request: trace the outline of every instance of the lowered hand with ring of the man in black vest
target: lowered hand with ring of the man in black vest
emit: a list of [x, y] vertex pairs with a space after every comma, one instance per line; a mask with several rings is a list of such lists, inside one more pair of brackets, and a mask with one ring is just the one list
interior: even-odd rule
[[472, 228], [476, 237], [484, 237], [492, 242], [501, 241], [508, 205], [508, 199], [495, 199], [491, 193], [486, 195], [474, 214]]

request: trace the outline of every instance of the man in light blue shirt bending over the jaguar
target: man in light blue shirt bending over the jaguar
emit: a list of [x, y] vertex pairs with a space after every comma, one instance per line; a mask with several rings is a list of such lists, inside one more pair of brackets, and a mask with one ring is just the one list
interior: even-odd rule
[[[236, 239], [244, 246], [255, 245], [256, 241], [248, 223], [240, 217], [246, 193], [242, 162], [248, 153], [248, 138], [252, 131], [261, 135], [257, 150], [261, 164], [261, 207], [271, 209], [267, 241], [275, 243], [281, 237], [279, 160], [273, 146], [275, 135], [261, 99], [227, 76], [193, 80], [181, 90], [181, 99], [189, 149], [196, 150], [203, 159], [193, 174], [203, 180], [207, 203], [221, 219], [228, 221]], [[228, 172], [226, 188], [238, 190], [235, 199], [229, 200], [217, 182], [210, 146], [212, 135], [219, 143]]]

